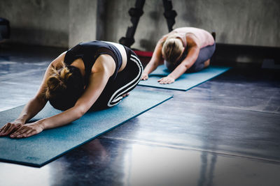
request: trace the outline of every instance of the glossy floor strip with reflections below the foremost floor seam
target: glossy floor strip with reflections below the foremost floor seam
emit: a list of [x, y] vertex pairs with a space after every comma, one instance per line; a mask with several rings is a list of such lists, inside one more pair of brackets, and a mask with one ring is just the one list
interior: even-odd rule
[[41, 168], [0, 162], [0, 185], [279, 186], [279, 172], [275, 162], [94, 139]]

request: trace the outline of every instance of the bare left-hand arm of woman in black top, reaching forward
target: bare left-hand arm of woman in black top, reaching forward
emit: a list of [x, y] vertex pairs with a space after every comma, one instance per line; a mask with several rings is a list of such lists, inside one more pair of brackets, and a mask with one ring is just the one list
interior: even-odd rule
[[6, 136], [12, 132], [15, 132], [15, 130], [18, 130], [20, 127], [22, 127], [22, 125], [25, 125], [27, 121], [29, 121], [31, 118], [36, 116], [36, 114], [38, 114], [38, 112], [41, 111], [43, 107], [45, 107], [45, 104], [47, 103], [47, 100], [45, 100], [45, 95], [44, 95], [46, 79], [48, 79], [50, 75], [51, 68], [57, 66], [60, 63], [60, 61], [64, 61], [64, 56], [65, 56], [65, 52], [59, 55], [57, 59], [52, 61], [52, 63], [50, 63], [47, 70], [45, 70], [43, 81], [41, 83], [41, 86], [38, 88], [38, 91], [34, 96], [34, 98], [32, 98], [31, 100], [29, 100], [29, 102], [27, 102], [25, 107], [22, 109], [20, 116], [18, 116], [18, 118], [15, 119], [15, 121], [6, 123], [6, 125], [1, 127], [0, 137]]

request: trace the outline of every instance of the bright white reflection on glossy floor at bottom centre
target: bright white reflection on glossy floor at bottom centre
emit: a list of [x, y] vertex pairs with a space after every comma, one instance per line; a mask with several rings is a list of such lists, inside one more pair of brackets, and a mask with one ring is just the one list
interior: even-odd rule
[[125, 185], [197, 185], [201, 164], [197, 153], [132, 144], [123, 156]]

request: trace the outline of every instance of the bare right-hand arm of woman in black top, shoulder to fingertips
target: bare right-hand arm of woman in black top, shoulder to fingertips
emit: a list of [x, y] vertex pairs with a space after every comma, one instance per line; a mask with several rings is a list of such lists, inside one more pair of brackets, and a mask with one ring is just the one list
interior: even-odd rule
[[78, 118], [83, 116], [83, 114], [92, 107], [92, 104], [94, 104], [97, 98], [99, 98], [99, 95], [101, 95], [104, 90], [109, 78], [113, 75], [115, 68], [116, 64], [111, 56], [106, 54], [99, 56], [92, 68], [92, 75], [90, 75], [90, 81], [87, 89], [78, 99], [74, 107], [71, 107], [70, 109], [67, 109], [55, 116], [43, 118], [34, 123], [23, 125], [13, 134], [10, 134], [10, 137], [30, 137], [45, 129], [59, 127], [71, 123], [72, 121], [76, 121]]

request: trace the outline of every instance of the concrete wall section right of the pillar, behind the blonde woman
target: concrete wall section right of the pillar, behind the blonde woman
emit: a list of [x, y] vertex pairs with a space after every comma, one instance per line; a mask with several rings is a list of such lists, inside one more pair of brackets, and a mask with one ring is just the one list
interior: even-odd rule
[[[108, 1], [110, 22], [106, 39], [117, 42], [125, 36], [134, 1]], [[216, 31], [216, 41], [226, 44], [280, 47], [280, 1], [278, 0], [174, 0], [177, 12], [174, 28], [194, 26]], [[151, 50], [160, 36], [168, 32], [162, 15], [162, 1], [146, 1], [132, 47]]]

